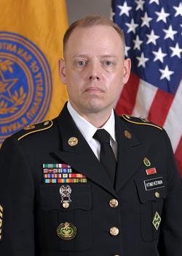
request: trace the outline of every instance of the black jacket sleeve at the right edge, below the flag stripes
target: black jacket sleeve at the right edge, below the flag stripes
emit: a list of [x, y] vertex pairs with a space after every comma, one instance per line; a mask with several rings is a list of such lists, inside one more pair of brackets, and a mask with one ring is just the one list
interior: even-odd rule
[[165, 256], [182, 255], [182, 189], [173, 148], [165, 133], [167, 151], [167, 197], [162, 210], [159, 252]]

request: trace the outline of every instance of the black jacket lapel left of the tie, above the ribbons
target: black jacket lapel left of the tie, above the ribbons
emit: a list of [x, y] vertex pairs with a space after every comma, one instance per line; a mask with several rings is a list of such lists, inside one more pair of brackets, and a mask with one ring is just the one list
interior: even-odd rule
[[[106, 174], [106, 170], [100, 165], [100, 162], [97, 157], [95, 157], [87, 141], [84, 139], [81, 132], [79, 132], [74, 120], [68, 113], [66, 105], [60, 113], [60, 116], [58, 116], [57, 122], [62, 145], [60, 145], [60, 151], [55, 151], [53, 154], [58, 157], [61, 162], [66, 162], [68, 165], [71, 165], [76, 171], [83, 173], [84, 176], [90, 178], [93, 182], [116, 197], [116, 192], [111, 186], [111, 181]], [[76, 146], [70, 146], [68, 144], [68, 139], [71, 137], [78, 139]]]

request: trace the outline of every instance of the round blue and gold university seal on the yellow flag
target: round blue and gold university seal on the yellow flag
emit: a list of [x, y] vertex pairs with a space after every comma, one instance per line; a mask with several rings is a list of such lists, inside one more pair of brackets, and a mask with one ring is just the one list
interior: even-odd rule
[[51, 96], [50, 66], [41, 50], [19, 34], [0, 32], [0, 143], [42, 121]]

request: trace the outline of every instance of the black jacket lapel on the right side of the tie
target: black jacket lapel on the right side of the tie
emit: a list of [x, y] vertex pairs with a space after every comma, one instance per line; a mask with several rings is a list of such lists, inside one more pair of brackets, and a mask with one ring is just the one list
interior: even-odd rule
[[[135, 134], [127, 127], [122, 118], [115, 116], [116, 140], [118, 143], [117, 168], [116, 168], [116, 192], [122, 189], [124, 184], [133, 176], [143, 162], [146, 154], [146, 145], [143, 145]], [[131, 139], [124, 136], [124, 131], [130, 132]]]

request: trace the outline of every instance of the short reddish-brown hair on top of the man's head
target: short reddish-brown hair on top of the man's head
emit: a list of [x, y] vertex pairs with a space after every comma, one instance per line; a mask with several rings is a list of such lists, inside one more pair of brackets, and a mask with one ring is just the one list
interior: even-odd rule
[[97, 25], [103, 25], [103, 26], [111, 26], [113, 27], [117, 33], [119, 34], [119, 37], [121, 37], [123, 45], [125, 47], [125, 39], [124, 39], [124, 33], [122, 29], [117, 26], [116, 23], [114, 23], [112, 20], [105, 18], [103, 16], [93, 15], [93, 16], [87, 16], [80, 20], [76, 20], [74, 23], [72, 23], [68, 29], [66, 30], [66, 33], [63, 37], [63, 53], [65, 53], [66, 50], [66, 44], [68, 42], [68, 39], [71, 35], [71, 33], [76, 29], [76, 27], [82, 27], [87, 28], [90, 26], [97, 26]]

